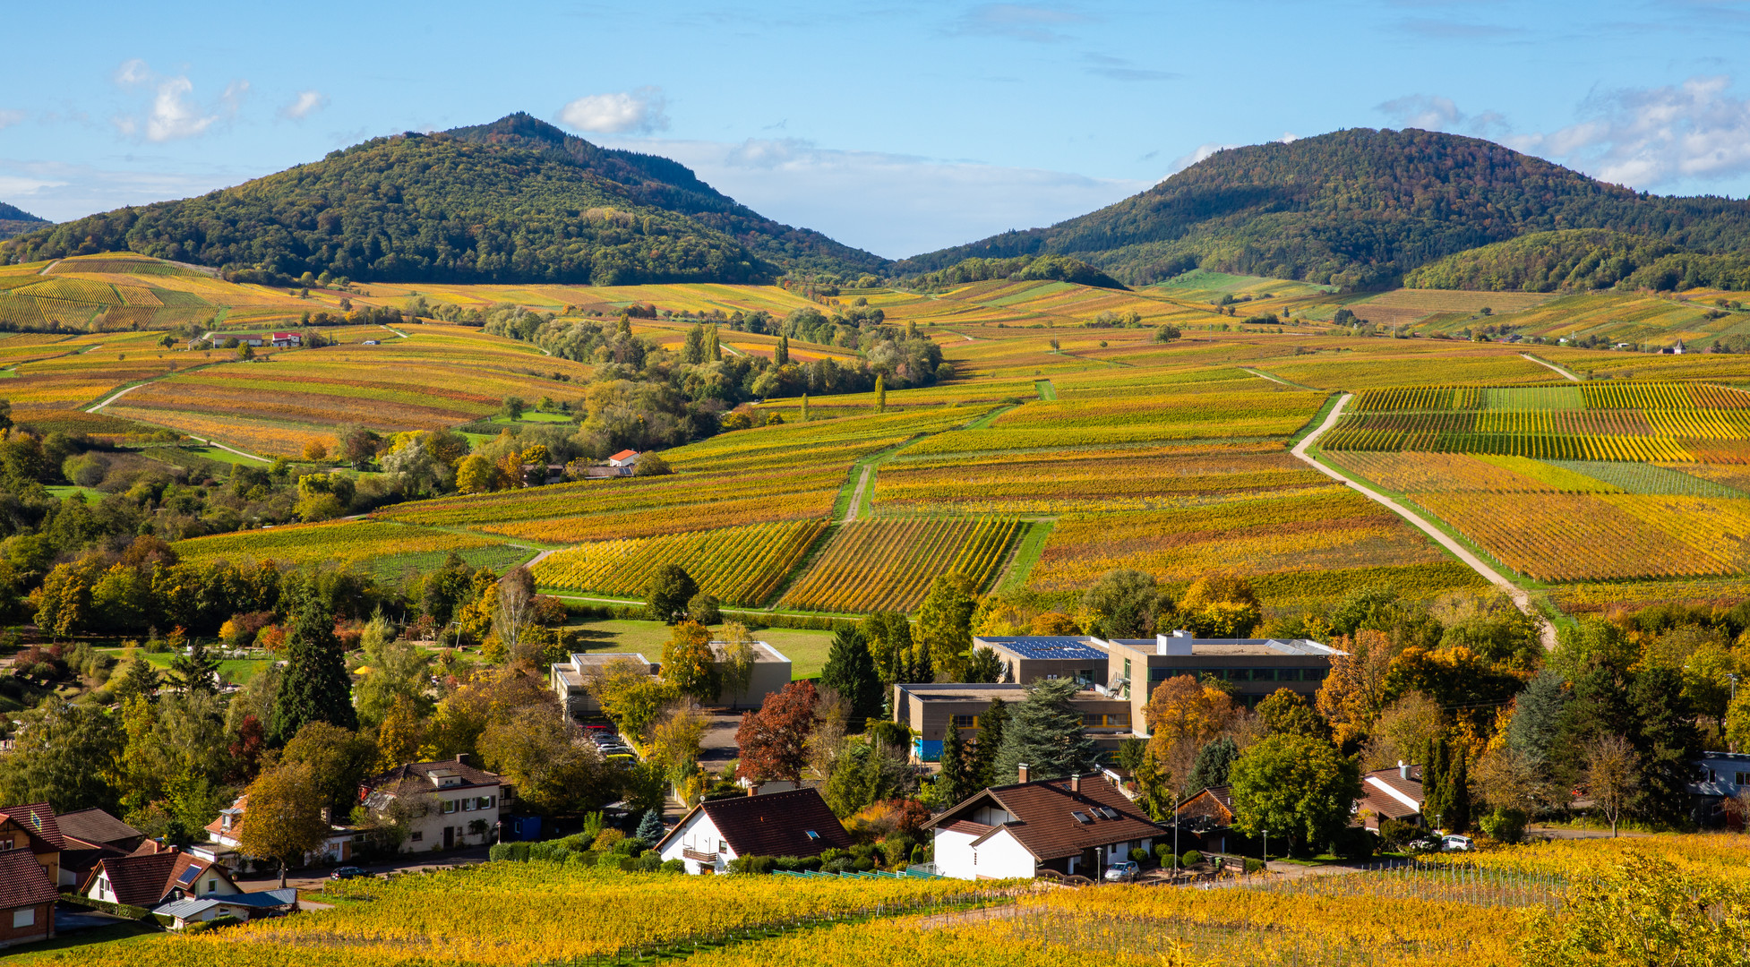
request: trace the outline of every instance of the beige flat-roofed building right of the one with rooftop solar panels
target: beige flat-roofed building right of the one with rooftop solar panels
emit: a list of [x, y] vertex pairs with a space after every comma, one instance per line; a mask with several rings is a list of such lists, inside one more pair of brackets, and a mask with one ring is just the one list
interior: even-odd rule
[[[1234, 701], [1253, 708], [1276, 689], [1312, 698], [1337, 649], [1306, 638], [1194, 638], [1186, 631], [1150, 638], [1113, 638], [1111, 684], [1127, 698], [1138, 726], [1160, 682], [1178, 675], [1211, 675], [1234, 687]], [[1141, 727], [1138, 734], [1141, 734]]]

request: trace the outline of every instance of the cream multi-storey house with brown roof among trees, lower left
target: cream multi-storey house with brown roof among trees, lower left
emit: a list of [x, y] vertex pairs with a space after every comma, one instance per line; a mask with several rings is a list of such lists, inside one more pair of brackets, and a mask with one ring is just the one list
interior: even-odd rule
[[467, 754], [397, 766], [359, 787], [366, 810], [406, 824], [402, 853], [497, 843], [514, 797], [502, 776], [476, 769]]

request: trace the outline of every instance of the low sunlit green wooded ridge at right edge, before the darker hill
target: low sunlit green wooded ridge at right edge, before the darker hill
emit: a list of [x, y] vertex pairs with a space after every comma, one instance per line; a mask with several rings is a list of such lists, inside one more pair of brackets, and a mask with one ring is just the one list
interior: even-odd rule
[[1533, 233], [1447, 255], [1404, 276], [1409, 289], [1558, 292], [1584, 289], [1750, 289], [1750, 255], [1701, 255], [1605, 229]]

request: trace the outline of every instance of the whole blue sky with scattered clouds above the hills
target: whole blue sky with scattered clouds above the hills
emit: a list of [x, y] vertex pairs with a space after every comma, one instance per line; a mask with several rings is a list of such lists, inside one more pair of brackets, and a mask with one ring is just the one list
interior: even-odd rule
[[7, 45], [0, 201], [56, 220], [513, 110], [889, 257], [1356, 126], [1750, 194], [1745, 0], [93, 0], [7, 24], [37, 40]]

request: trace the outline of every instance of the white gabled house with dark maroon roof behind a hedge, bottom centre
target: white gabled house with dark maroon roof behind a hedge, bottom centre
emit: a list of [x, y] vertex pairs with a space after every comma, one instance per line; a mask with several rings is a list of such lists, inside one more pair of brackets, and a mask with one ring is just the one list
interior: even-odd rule
[[737, 857], [817, 857], [849, 848], [850, 836], [814, 787], [765, 796], [707, 799], [693, 806], [656, 855], [686, 862], [688, 873], [724, 873]]

